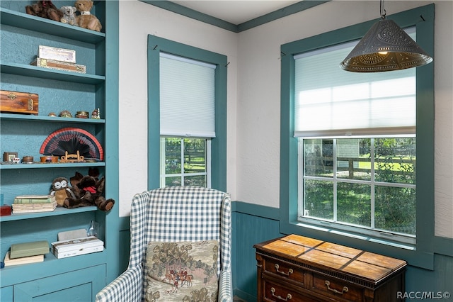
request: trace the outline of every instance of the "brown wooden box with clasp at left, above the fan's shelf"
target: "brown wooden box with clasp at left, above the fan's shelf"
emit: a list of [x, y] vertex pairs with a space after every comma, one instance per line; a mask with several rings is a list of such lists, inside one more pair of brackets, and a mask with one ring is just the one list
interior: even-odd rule
[[0, 111], [38, 115], [38, 94], [1, 90]]

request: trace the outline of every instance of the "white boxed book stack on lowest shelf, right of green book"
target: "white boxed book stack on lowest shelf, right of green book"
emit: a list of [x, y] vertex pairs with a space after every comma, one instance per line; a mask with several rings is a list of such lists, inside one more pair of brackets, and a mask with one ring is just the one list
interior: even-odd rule
[[52, 242], [52, 253], [60, 258], [102, 252], [104, 242], [95, 236]]

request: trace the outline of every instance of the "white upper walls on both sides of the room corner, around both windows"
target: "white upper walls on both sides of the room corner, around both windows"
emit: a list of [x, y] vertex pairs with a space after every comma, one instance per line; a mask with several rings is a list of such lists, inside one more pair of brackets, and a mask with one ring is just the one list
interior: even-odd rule
[[[435, 3], [435, 234], [453, 237], [453, 2], [386, 1], [388, 16]], [[137, 1], [120, 3], [120, 215], [147, 186], [147, 34], [228, 56], [227, 189], [279, 207], [280, 45], [379, 18], [379, 1], [331, 1], [231, 33]], [[438, 63], [442, 62], [442, 63]], [[130, 164], [127, 157], [141, 159]]]

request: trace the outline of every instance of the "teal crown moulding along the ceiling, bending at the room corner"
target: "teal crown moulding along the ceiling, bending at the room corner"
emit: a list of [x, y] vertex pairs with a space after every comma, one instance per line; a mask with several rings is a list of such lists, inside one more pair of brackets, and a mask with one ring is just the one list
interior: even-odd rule
[[180, 4], [173, 3], [171, 1], [166, 0], [140, 0], [144, 3], [151, 4], [157, 6], [161, 9], [166, 9], [167, 11], [172, 11], [173, 13], [178, 13], [180, 15], [193, 18], [197, 21], [201, 21], [212, 26], [217, 26], [219, 28], [223, 28], [225, 30], [232, 31], [234, 33], [240, 33], [241, 31], [248, 30], [250, 28], [254, 28], [256, 26], [263, 25], [265, 23], [275, 21], [279, 18], [283, 18], [285, 16], [289, 16], [293, 13], [299, 13], [299, 11], [304, 11], [306, 9], [310, 9], [311, 7], [317, 6], [319, 4], [326, 3], [331, 0], [315, 0], [315, 1], [299, 1], [296, 4], [292, 4], [286, 6], [283, 9], [278, 9], [277, 11], [273, 11], [271, 13], [267, 13], [264, 16], [260, 16], [258, 18], [254, 18], [251, 21], [246, 21], [239, 25], [234, 23], [230, 23], [224, 21], [219, 18], [215, 18], [213, 16], [209, 16], [205, 13], [200, 13], [200, 11], [195, 11], [193, 9], [189, 9], [185, 6]]

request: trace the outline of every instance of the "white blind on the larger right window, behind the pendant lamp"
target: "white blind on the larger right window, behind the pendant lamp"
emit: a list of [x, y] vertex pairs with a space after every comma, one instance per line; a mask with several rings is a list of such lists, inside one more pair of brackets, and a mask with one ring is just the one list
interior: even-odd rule
[[357, 42], [294, 56], [294, 136], [415, 135], [415, 68], [345, 72], [338, 65]]

